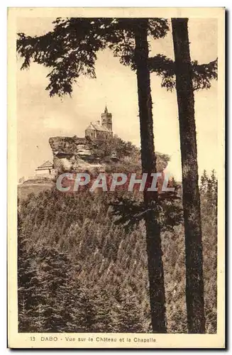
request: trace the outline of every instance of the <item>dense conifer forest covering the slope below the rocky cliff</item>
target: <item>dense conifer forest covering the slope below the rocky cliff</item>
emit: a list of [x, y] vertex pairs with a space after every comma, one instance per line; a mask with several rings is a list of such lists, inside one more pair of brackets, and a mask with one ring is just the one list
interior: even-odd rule
[[[216, 195], [214, 172], [204, 173], [207, 332], [216, 332]], [[53, 189], [18, 202], [19, 332], [151, 332], [144, 224], [115, 224], [115, 198]], [[187, 332], [182, 225], [162, 233], [162, 251], [168, 332]]]

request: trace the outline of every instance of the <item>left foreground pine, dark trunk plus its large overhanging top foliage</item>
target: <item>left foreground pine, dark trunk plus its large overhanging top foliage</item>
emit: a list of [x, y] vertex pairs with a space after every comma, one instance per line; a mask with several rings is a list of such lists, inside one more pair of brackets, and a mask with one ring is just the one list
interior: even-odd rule
[[[140, 116], [141, 160], [143, 173], [155, 173], [153, 116], [148, 69], [148, 35], [162, 38], [168, 30], [164, 18], [57, 18], [53, 31], [42, 36], [19, 33], [18, 53], [24, 58], [23, 68], [33, 60], [50, 67], [50, 96], [71, 94], [79, 75], [95, 77], [96, 52], [111, 48], [124, 65], [137, 73]], [[165, 288], [162, 266], [160, 227], [149, 209], [154, 196], [144, 193], [150, 308], [153, 332], [167, 331], [165, 320]]]

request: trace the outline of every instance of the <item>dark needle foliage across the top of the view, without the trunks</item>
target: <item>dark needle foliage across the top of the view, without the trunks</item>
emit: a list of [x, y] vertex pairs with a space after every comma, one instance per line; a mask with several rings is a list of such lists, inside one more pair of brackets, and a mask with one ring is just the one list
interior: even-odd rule
[[[53, 31], [32, 37], [18, 33], [17, 51], [23, 60], [22, 69], [31, 61], [50, 68], [50, 96], [72, 93], [72, 85], [80, 75], [96, 77], [95, 62], [99, 50], [110, 48], [123, 65], [135, 70], [136, 18], [57, 18]], [[148, 36], [164, 38], [169, 31], [165, 18], [149, 18]], [[175, 63], [165, 55], [149, 58], [150, 72], [162, 77], [162, 87], [175, 87]], [[194, 89], [211, 86], [217, 77], [217, 60], [201, 64], [192, 62]]]

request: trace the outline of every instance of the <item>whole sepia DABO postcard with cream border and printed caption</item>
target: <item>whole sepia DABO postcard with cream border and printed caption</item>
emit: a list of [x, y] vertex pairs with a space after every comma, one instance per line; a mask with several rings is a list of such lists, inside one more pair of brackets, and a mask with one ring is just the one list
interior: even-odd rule
[[225, 9], [9, 8], [10, 348], [224, 348]]

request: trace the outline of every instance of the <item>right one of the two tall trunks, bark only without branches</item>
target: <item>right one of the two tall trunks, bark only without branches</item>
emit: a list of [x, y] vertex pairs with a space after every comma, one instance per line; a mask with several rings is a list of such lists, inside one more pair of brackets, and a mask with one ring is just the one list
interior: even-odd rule
[[189, 53], [188, 18], [172, 18], [186, 253], [186, 303], [189, 333], [205, 332], [201, 214], [197, 168], [194, 92]]

